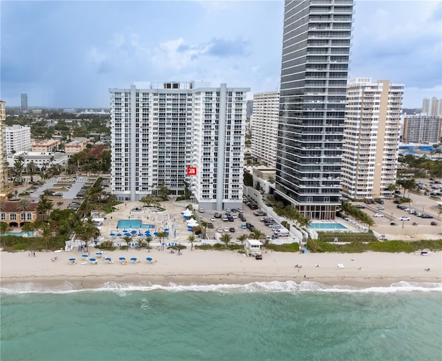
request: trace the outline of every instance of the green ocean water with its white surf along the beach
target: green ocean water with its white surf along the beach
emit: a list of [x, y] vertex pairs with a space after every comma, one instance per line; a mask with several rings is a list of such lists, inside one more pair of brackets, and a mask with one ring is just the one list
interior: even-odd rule
[[1, 289], [1, 361], [441, 360], [442, 284]]

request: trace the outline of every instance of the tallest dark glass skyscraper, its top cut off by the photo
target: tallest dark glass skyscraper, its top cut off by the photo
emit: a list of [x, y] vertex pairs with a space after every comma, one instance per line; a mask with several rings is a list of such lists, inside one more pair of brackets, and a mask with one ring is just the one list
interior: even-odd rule
[[285, 1], [276, 195], [311, 219], [340, 204], [353, 5]]

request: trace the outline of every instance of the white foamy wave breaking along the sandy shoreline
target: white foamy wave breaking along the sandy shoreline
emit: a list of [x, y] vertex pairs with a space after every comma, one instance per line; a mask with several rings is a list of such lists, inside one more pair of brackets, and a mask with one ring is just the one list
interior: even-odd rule
[[124, 297], [132, 292], [218, 292], [218, 293], [260, 293], [260, 292], [321, 292], [321, 293], [397, 293], [397, 292], [442, 292], [442, 283], [438, 282], [397, 282], [390, 286], [354, 287], [345, 285], [322, 284], [318, 282], [293, 281], [251, 282], [248, 284], [151, 284], [140, 282], [137, 284], [106, 282], [93, 289], [77, 288], [70, 282], [64, 282], [59, 286], [48, 287], [33, 282], [20, 282], [2, 286], [0, 293], [77, 293], [77, 292], [113, 292]]

